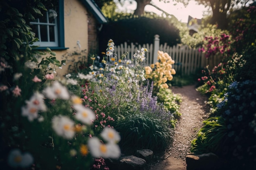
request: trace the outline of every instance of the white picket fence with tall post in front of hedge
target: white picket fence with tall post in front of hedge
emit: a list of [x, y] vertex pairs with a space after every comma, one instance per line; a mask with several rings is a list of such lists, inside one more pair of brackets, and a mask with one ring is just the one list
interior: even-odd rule
[[204, 68], [208, 64], [212, 68], [219, 62], [214, 57], [211, 57], [210, 60], [206, 59], [204, 53], [199, 52], [198, 49], [189, 48], [186, 45], [168, 46], [166, 43], [159, 45], [159, 35], [155, 35], [154, 44], [135, 45], [130, 43], [128, 45], [127, 42], [124, 42], [124, 44], [115, 46], [115, 54], [119, 59], [122, 54], [128, 52], [126, 57], [128, 60], [132, 60], [133, 55], [141, 48], [148, 49], [148, 52], [145, 54], [146, 60], [142, 63], [143, 66], [149, 66], [157, 62], [157, 51], [159, 50], [168, 53], [172, 57], [175, 61], [173, 68], [181, 75], [194, 74], [198, 69]]

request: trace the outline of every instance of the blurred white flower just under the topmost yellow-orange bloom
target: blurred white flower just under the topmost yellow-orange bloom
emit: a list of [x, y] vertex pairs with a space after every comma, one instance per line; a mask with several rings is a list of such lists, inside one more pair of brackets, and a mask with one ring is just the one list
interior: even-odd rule
[[94, 120], [96, 115], [90, 108], [85, 108], [81, 104], [75, 104], [73, 107], [76, 110], [75, 117], [77, 120], [80, 120], [84, 124], [92, 124], [91, 120]]

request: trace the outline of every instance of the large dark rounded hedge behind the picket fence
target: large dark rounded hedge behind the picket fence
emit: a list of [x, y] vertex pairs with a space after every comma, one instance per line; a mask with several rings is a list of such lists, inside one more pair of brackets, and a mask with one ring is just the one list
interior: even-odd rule
[[[156, 26], [159, 25], [159, 26]], [[100, 50], [105, 51], [105, 44], [109, 37], [115, 40], [116, 45], [124, 42], [136, 44], [153, 44], [154, 36], [160, 36], [160, 43], [167, 43], [169, 46], [180, 43], [179, 31], [175, 25], [164, 18], [132, 17], [120, 19], [104, 24], [100, 33]], [[138, 35], [140, 35], [138, 37]]]

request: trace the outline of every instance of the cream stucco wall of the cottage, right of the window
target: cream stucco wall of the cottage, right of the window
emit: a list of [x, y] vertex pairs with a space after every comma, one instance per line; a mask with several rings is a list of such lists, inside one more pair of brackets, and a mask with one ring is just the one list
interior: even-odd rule
[[[88, 50], [88, 11], [79, 0], [64, 0], [64, 26], [65, 47], [69, 49], [54, 51], [58, 60], [63, 60], [62, 56], [67, 53]], [[80, 42], [80, 49], [77, 41]], [[78, 60], [78, 56], [75, 56], [75, 60]], [[66, 66], [56, 71], [57, 76], [65, 75], [70, 64], [74, 64], [74, 62], [67, 61]]]

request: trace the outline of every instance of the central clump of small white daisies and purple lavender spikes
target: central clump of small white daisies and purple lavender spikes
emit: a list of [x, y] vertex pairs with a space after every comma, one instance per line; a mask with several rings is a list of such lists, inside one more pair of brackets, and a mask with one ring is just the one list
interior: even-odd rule
[[[161, 126], [155, 127], [156, 125], [146, 121], [145, 123], [148, 123], [149, 127], [155, 130], [162, 128], [167, 132], [170, 127], [174, 126], [173, 113], [167, 110], [163, 104], [157, 102], [157, 97], [153, 95], [153, 82], [151, 84], [148, 82], [146, 86], [143, 83], [146, 80], [145, 71], [140, 63], [145, 59], [144, 53], [147, 50], [143, 48], [137, 51], [133, 64], [130, 60], [126, 60], [126, 54], [122, 55], [118, 61], [112, 56], [115, 44], [111, 39], [107, 46], [106, 56], [102, 60], [99, 60], [98, 57], [91, 57], [92, 65], [88, 75], [68, 74], [66, 81], [69, 82], [70, 79], [72, 82], [76, 80], [77, 83], [85, 81], [80, 88], [81, 102], [96, 114], [96, 119], [93, 122], [94, 131], [91, 135], [100, 134], [104, 127], [114, 127], [120, 132], [121, 137], [124, 137], [121, 140], [121, 149], [134, 150], [137, 146], [133, 142], [130, 145], [124, 145], [127, 143], [128, 133], [124, 133], [126, 128], [122, 124], [128, 124], [130, 119], [135, 119], [142, 114], [148, 119], [162, 122]], [[70, 84], [69, 87], [72, 86], [77, 85]], [[139, 130], [145, 129], [141, 126]], [[152, 133], [157, 133], [155, 130], [152, 130]], [[149, 136], [143, 136], [139, 140], [146, 142]], [[172, 139], [170, 134], [166, 133], [166, 136], [157, 135], [156, 141], [164, 140], [163, 148], [166, 149], [171, 143], [164, 138]], [[150, 149], [155, 147], [154, 144], [156, 143], [143, 145], [143, 147], [139, 145], [139, 147]]]

